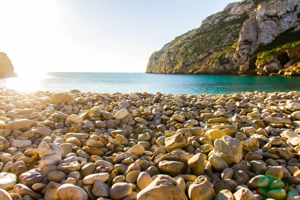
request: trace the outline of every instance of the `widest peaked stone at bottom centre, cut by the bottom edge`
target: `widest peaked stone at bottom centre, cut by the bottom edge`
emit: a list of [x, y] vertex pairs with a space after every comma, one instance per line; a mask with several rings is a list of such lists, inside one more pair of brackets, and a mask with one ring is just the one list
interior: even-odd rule
[[158, 175], [148, 186], [138, 192], [136, 197], [138, 200], [187, 200], [176, 180], [168, 175]]

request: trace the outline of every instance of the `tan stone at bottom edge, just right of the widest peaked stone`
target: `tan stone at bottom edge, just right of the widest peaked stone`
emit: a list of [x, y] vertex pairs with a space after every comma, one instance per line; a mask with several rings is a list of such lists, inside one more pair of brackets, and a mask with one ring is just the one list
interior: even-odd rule
[[214, 196], [214, 189], [205, 176], [198, 176], [188, 187], [188, 197], [190, 200], [212, 200]]

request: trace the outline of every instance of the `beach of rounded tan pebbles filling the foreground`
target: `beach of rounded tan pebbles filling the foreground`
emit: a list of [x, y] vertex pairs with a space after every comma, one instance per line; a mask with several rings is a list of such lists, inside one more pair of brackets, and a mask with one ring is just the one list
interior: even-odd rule
[[300, 92], [0, 87], [0, 199], [300, 199]]

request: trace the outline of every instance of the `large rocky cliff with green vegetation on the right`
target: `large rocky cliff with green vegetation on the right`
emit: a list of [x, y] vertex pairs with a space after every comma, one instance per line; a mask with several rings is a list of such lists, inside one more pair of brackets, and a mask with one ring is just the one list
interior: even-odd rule
[[154, 52], [147, 73], [300, 74], [300, 0], [242, 0]]

